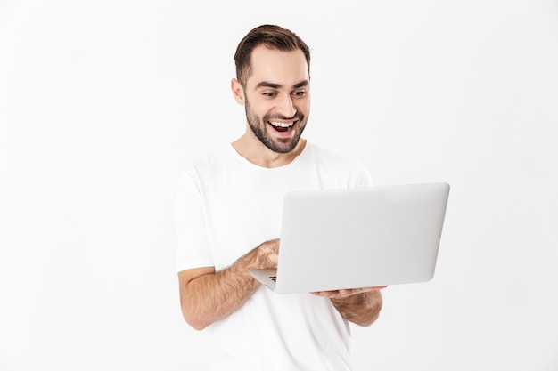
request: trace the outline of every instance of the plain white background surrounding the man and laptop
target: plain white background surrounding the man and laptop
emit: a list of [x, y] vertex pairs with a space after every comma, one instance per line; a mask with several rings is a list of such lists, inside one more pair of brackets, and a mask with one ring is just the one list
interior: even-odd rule
[[376, 184], [452, 186], [434, 279], [384, 290], [355, 370], [557, 370], [543, 0], [0, 0], [0, 370], [201, 368], [174, 181], [242, 134], [233, 54], [262, 23], [312, 48], [308, 139]]

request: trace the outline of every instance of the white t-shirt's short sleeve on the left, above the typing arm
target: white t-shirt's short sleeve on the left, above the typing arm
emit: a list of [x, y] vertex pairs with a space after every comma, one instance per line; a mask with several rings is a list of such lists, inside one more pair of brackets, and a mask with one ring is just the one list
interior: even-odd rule
[[200, 181], [188, 165], [176, 179], [176, 270], [212, 266]]

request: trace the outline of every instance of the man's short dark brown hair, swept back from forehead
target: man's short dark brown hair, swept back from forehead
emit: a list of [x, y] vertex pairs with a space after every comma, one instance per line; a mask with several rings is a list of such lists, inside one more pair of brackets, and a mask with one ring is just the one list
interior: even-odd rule
[[259, 45], [265, 45], [272, 50], [291, 52], [300, 49], [304, 53], [310, 70], [310, 49], [302, 39], [291, 30], [275, 25], [262, 25], [253, 28], [242, 38], [234, 53], [236, 65], [236, 79], [243, 87], [246, 86], [248, 77], [252, 72], [251, 53]]

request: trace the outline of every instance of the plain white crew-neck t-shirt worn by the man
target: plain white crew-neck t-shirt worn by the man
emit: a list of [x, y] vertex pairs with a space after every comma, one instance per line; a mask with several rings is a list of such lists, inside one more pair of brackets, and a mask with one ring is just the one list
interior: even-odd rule
[[[279, 238], [291, 190], [372, 185], [365, 166], [307, 142], [291, 164], [264, 168], [232, 145], [187, 165], [177, 183], [177, 270], [223, 270]], [[319, 256], [316, 256], [319, 262]], [[329, 299], [260, 286], [242, 307], [202, 331], [211, 370], [349, 370], [349, 323]]]

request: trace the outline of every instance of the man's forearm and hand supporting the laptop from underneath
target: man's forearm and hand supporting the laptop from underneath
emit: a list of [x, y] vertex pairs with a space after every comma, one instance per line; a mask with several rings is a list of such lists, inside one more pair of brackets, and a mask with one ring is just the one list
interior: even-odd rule
[[382, 293], [385, 286], [357, 288], [351, 290], [323, 291], [313, 293], [329, 297], [333, 306], [347, 319], [359, 326], [370, 326], [380, 316]]

